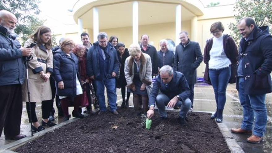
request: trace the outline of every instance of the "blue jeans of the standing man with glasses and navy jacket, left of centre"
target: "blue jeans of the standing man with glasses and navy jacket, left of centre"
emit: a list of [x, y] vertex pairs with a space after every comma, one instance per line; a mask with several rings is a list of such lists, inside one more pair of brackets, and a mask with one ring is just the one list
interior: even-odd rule
[[116, 111], [116, 101], [117, 101], [117, 95], [116, 95], [116, 87], [115, 87], [115, 78], [113, 79], [103, 79], [103, 80], [95, 80], [96, 85], [96, 96], [98, 98], [99, 102], [99, 109], [100, 111], [107, 111], [106, 103], [105, 103], [105, 86], [107, 88], [107, 95], [108, 95], [108, 101], [110, 106], [110, 111]]

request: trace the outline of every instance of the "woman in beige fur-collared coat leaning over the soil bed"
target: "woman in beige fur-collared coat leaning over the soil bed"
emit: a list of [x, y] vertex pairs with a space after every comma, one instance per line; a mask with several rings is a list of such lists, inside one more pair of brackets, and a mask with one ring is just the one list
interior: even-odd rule
[[125, 79], [129, 92], [133, 93], [133, 105], [137, 115], [140, 115], [140, 99], [143, 113], [148, 110], [148, 95], [152, 90], [152, 64], [149, 55], [142, 53], [138, 44], [129, 48], [130, 56], [125, 60]]

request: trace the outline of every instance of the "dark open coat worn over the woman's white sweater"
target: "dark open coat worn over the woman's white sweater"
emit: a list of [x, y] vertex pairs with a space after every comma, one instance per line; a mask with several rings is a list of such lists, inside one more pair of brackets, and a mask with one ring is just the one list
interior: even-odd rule
[[[212, 48], [213, 39], [206, 40], [206, 45], [204, 48], [204, 63], [206, 64], [205, 73], [204, 73], [204, 81], [208, 84], [211, 84], [209, 77], [209, 61], [210, 61], [210, 49]], [[228, 83], [236, 82], [236, 70], [237, 70], [237, 58], [238, 58], [238, 50], [235, 44], [235, 41], [229, 35], [223, 36], [223, 49], [227, 56], [227, 58], [232, 62], [231, 66], [231, 77]]]

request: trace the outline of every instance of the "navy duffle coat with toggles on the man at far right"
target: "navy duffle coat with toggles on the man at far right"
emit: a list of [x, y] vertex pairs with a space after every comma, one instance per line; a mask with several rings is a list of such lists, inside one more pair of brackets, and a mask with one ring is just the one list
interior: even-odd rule
[[[240, 41], [239, 59], [243, 59], [242, 70], [245, 78], [244, 93], [260, 95], [272, 92], [270, 73], [272, 71], [272, 36], [268, 26], [255, 29], [248, 40]], [[240, 60], [239, 60], [240, 61]], [[238, 79], [236, 88], [238, 87]]]

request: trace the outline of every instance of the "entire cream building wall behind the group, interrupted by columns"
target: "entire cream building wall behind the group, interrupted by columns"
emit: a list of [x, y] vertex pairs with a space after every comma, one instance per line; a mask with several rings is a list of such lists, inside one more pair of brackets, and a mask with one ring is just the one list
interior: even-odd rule
[[[230, 22], [235, 22], [232, 17], [221, 18], [221, 19], [198, 19], [198, 39], [201, 51], [203, 54], [204, 47], [206, 45], [206, 40], [211, 38], [210, 34], [210, 25], [216, 21], [221, 21], [225, 27], [223, 33], [230, 33], [228, 25]], [[88, 32], [93, 43], [93, 34], [92, 29], [85, 29], [84, 31]], [[189, 38], [191, 36], [191, 21], [183, 21], [181, 25], [181, 31], [189, 32]], [[123, 42], [126, 47], [132, 43], [132, 27], [122, 27], [122, 28], [112, 28], [112, 29], [100, 29], [100, 32], [106, 32], [108, 36], [115, 35], [118, 37], [120, 42]], [[175, 23], [160, 23], [160, 24], [151, 24], [151, 25], [142, 25], [139, 26], [139, 41], [142, 34], [148, 34], [150, 37], [150, 42], [159, 50], [159, 41], [161, 39], [172, 39], [175, 41]], [[77, 33], [68, 33], [65, 35], [66, 38], [71, 38], [73, 40], [80, 40]], [[56, 35], [56, 40], [58, 41], [62, 38], [62, 35]], [[205, 64], [202, 62], [198, 67], [197, 72], [199, 77], [203, 77], [205, 71]]]

